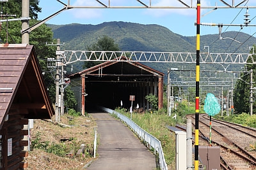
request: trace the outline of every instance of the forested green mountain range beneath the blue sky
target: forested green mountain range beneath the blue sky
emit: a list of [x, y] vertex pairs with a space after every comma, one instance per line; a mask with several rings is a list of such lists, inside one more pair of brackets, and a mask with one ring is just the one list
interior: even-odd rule
[[[196, 52], [195, 36], [175, 34], [161, 25], [104, 22], [99, 25], [49, 24], [48, 26], [54, 32], [54, 38], [60, 38], [61, 41], [65, 42], [65, 46], [61, 46], [61, 50], [87, 50], [87, 46], [92, 45], [97, 42], [97, 39], [106, 35], [113, 38], [123, 51]], [[249, 46], [253, 46], [256, 42], [255, 37], [243, 32], [230, 31], [221, 34], [221, 36], [223, 38], [234, 38], [242, 44], [231, 39], [220, 40], [219, 34], [209, 34], [200, 37], [201, 52], [207, 52], [208, 49], [204, 49], [204, 46], [209, 46], [209, 52], [248, 53], [250, 51]], [[177, 67], [177, 64], [170, 63], [148, 63], [147, 65], [163, 73], [166, 73], [170, 67]], [[182, 64], [179, 64], [179, 67], [182, 67], [180, 65]], [[76, 68], [83, 69], [81, 64], [78, 64]]]

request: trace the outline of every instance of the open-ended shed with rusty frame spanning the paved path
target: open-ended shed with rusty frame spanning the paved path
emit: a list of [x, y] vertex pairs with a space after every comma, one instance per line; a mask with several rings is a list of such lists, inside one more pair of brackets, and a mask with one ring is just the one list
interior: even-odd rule
[[125, 57], [103, 62], [70, 76], [76, 94], [77, 111], [84, 111], [93, 104], [115, 109], [131, 107], [130, 96], [134, 96], [133, 108], [150, 109], [145, 99], [148, 94], [158, 97], [158, 108], [163, 108], [163, 76], [140, 62], [127, 61]]

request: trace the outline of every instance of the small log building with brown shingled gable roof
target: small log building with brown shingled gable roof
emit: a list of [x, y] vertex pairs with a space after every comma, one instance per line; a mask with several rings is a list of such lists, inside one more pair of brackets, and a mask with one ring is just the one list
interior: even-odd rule
[[24, 169], [29, 119], [51, 118], [54, 108], [31, 45], [0, 46], [0, 169]]

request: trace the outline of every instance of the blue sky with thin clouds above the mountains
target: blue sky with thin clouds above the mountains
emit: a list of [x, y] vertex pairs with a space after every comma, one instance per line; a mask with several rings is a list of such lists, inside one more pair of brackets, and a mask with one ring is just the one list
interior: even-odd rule
[[[68, 0], [60, 0], [62, 3], [68, 4]], [[101, 3], [111, 6], [143, 6], [137, 0], [99, 0]], [[140, 0], [148, 6], [175, 6], [184, 7], [180, 1], [191, 6], [196, 6], [196, 0]], [[242, 3], [244, 0], [222, 0], [234, 5]], [[50, 3], [51, 2], [51, 3]], [[72, 6], [102, 6], [96, 0], [70, 0]], [[53, 13], [61, 10], [64, 5], [56, 0], [40, 0], [39, 6], [42, 12], [38, 13], [38, 19], [43, 20]], [[244, 1], [240, 6], [245, 8], [220, 8], [227, 6], [220, 0], [201, 0], [201, 23], [214, 23], [224, 24], [221, 32], [225, 31], [241, 31], [252, 36], [256, 36], [256, 8], [249, 8], [248, 14], [250, 15], [250, 25], [243, 27], [240, 26], [226, 26], [225, 24], [244, 24], [244, 15], [246, 14], [246, 6], [255, 6], [256, 0]], [[205, 6], [217, 6], [214, 8], [204, 8]], [[255, 17], [255, 18], [254, 18]], [[130, 9], [117, 9], [117, 8], [76, 8], [62, 11], [56, 17], [51, 18], [47, 24], [102, 24], [103, 22], [123, 21], [133, 22], [138, 24], [157, 24], [170, 29], [170, 31], [180, 34], [182, 36], [196, 36], [196, 10], [195, 8], [177, 8], [177, 9], [152, 9], [152, 8], [130, 8]], [[200, 35], [205, 34], [218, 34], [218, 26], [200, 25]]]

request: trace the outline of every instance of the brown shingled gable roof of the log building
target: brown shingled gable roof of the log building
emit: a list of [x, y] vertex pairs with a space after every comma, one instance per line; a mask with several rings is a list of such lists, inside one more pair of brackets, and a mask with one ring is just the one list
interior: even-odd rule
[[31, 45], [0, 45], [0, 128], [8, 114], [51, 118], [54, 109]]

